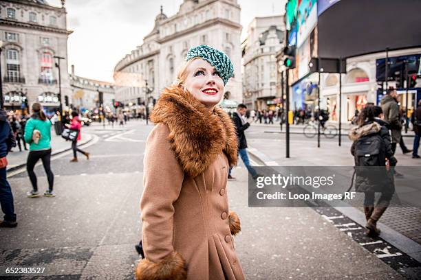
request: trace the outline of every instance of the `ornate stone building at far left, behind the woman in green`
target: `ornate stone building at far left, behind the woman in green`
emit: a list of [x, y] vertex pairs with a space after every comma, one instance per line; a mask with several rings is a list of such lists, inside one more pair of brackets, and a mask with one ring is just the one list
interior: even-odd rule
[[72, 93], [67, 73], [66, 10], [43, 0], [2, 0], [0, 2], [1, 79], [5, 108], [21, 111], [40, 102], [46, 113], [58, 108], [58, 67], [60, 62], [62, 102]]

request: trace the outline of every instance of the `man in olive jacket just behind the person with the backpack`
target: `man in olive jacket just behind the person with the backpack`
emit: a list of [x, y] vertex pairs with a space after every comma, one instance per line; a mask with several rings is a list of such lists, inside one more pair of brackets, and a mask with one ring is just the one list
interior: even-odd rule
[[395, 89], [389, 88], [385, 97], [380, 100], [380, 106], [383, 110], [383, 119], [390, 125], [391, 131], [391, 148], [393, 154], [396, 152], [396, 145], [402, 137], [402, 124], [400, 123], [398, 93]]

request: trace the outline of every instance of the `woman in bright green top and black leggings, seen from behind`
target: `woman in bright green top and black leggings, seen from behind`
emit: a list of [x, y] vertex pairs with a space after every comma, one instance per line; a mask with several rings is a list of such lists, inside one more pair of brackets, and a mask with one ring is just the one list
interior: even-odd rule
[[41, 104], [32, 104], [32, 116], [25, 126], [25, 142], [30, 144], [30, 153], [26, 163], [26, 170], [32, 183], [32, 191], [28, 191], [30, 198], [39, 197], [38, 185], [36, 184], [36, 175], [34, 167], [37, 161], [43, 161], [44, 170], [48, 179], [48, 190], [44, 196], [53, 197], [54, 174], [51, 171], [51, 122], [45, 117]]

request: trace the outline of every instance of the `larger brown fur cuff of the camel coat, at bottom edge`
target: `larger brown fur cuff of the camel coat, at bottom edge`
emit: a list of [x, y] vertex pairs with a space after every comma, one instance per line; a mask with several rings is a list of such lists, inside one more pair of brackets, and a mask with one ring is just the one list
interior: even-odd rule
[[173, 252], [162, 261], [153, 263], [148, 259], [139, 261], [137, 280], [184, 280], [187, 279], [186, 262], [179, 253]]

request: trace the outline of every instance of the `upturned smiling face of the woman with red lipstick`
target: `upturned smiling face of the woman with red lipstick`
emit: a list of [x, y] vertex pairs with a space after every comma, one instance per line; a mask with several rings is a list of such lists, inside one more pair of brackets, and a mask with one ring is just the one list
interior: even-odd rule
[[224, 96], [224, 81], [215, 67], [203, 59], [196, 59], [186, 69], [182, 84], [199, 102], [212, 109]]

